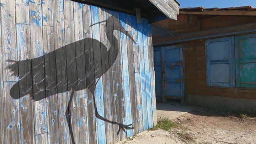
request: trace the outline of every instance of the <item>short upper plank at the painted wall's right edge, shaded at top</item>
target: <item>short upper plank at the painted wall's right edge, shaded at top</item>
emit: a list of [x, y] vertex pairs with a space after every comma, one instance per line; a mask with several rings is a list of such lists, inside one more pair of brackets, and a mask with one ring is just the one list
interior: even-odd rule
[[154, 70], [154, 48], [152, 44], [152, 26], [148, 24], [147, 26], [147, 36], [148, 36], [148, 53], [149, 53], [149, 70]]

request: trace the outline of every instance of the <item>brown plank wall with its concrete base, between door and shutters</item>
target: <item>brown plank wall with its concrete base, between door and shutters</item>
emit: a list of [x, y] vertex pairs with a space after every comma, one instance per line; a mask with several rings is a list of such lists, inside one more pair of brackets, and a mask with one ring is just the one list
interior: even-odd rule
[[255, 89], [207, 86], [205, 39], [184, 42], [182, 45], [185, 53], [185, 98], [188, 104], [256, 112]]

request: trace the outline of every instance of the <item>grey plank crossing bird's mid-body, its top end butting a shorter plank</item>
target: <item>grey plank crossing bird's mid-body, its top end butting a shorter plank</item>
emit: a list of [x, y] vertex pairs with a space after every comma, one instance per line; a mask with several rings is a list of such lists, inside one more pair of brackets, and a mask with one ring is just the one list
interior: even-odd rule
[[48, 143], [59, 143], [59, 112], [53, 27], [43, 26]]

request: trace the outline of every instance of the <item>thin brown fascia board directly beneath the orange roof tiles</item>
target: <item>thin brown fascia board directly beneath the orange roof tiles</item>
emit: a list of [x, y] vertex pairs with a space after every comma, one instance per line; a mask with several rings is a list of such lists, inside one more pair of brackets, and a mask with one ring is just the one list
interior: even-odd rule
[[256, 11], [180, 11], [180, 14], [186, 15], [229, 15], [229, 16], [256, 16]]

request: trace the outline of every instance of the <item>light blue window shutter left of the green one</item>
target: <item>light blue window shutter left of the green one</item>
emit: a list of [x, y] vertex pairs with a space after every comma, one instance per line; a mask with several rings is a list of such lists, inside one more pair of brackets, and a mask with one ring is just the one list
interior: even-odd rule
[[208, 86], [235, 86], [234, 55], [234, 37], [206, 41]]

